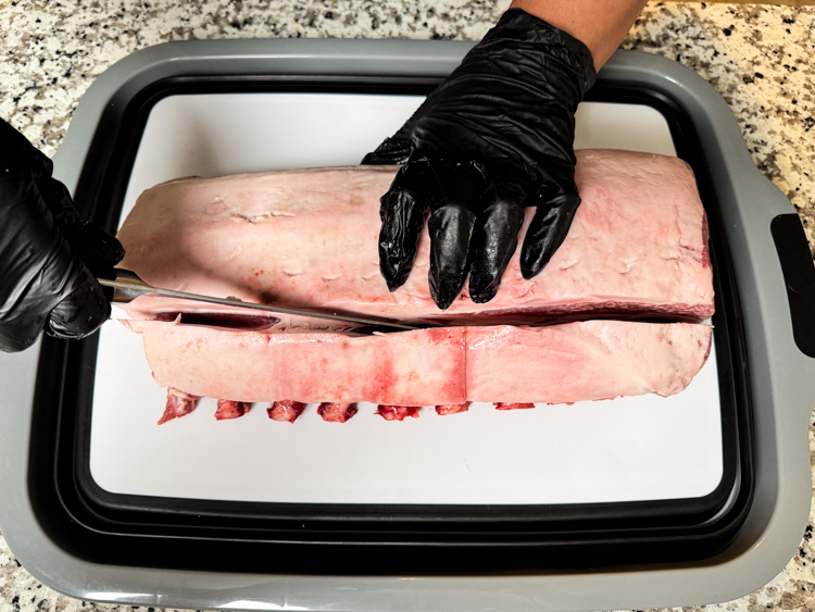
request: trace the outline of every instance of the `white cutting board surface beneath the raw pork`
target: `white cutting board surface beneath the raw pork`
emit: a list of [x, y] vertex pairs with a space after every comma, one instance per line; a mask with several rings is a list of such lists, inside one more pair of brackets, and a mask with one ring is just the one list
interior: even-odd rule
[[[421, 97], [175, 96], [152, 110], [122, 221], [145, 189], [178, 176], [355, 164]], [[576, 148], [675, 154], [640, 105], [584, 103]], [[296, 398], [293, 398], [296, 399]], [[348, 423], [309, 405], [294, 423], [215, 421], [215, 400], [158, 426], [165, 391], [139, 336], [106, 323], [99, 342], [90, 470], [116, 494], [317, 503], [587, 503], [702, 497], [723, 475], [715, 348], [681, 394], [539, 404], [386, 422], [360, 404]]]

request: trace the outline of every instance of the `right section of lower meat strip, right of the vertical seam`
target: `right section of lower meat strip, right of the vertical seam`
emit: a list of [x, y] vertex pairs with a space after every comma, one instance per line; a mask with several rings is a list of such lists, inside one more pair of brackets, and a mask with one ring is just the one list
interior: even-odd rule
[[467, 399], [517, 404], [672, 396], [704, 364], [712, 332], [619, 321], [468, 327]]

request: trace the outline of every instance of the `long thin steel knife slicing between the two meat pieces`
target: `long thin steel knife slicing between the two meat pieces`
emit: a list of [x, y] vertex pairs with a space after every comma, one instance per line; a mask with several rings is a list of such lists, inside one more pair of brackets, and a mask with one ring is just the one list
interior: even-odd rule
[[396, 323], [393, 321], [383, 319], [364, 319], [361, 316], [352, 316], [347, 314], [327, 313], [306, 309], [296, 309], [279, 307], [274, 304], [258, 304], [254, 302], [244, 302], [237, 298], [215, 298], [212, 296], [199, 296], [198, 293], [188, 293], [186, 291], [176, 291], [174, 289], [162, 289], [161, 287], [153, 287], [148, 285], [135, 272], [129, 270], [115, 270], [115, 278], [99, 278], [99, 284], [104, 287], [112, 287], [114, 303], [128, 303], [135, 300], [137, 297], [143, 293], [155, 293], [156, 296], [165, 296], [167, 298], [178, 298], [181, 300], [192, 300], [197, 302], [206, 302], [210, 304], [222, 304], [236, 308], [244, 308], [249, 310], [273, 312], [276, 314], [293, 314], [296, 316], [308, 316], [310, 319], [328, 319], [330, 321], [342, 321], [344, 323], [355, 323], [361, 325], [372, 325], [374, 327], [391, 327], [393, 329], [421, 329], [422, 327], [415, 325], [405, 325], [404, 323]]

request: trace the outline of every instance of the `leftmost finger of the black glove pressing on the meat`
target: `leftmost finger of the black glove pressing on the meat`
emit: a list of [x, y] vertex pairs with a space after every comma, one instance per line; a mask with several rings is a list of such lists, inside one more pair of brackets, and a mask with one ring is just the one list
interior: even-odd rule
[[404, 285], [413, 267], [425, 213], [440, 197], [436, 175], [426, 161], [409, 162], [379, 199], [379, 270], [396, 291]]

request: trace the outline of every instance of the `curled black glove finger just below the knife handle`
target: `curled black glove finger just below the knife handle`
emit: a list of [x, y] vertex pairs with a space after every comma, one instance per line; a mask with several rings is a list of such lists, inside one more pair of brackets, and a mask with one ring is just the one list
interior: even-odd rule
[[74, 289], [51, 311], [48, 333], [75, 340], [89, 336], [110, 319], [111, 304], [90, 271], [79, 261], [72, 271]]

